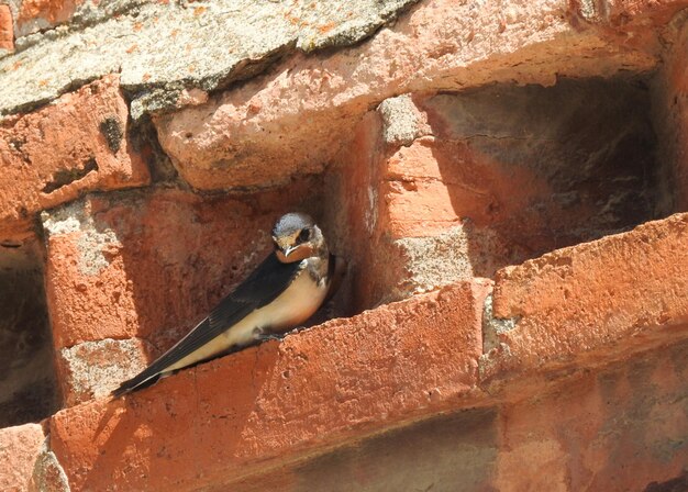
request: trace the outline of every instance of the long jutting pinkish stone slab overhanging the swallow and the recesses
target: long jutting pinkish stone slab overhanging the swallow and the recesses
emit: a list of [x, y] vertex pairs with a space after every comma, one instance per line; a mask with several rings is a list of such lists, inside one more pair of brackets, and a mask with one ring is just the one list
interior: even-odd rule
[[160, 143], [196, 188], [264, 187], [321, 171], [362, 115], [399, 93], [655, 67], [658, 46], [621, 47], [567, 15], [558, 0], [426, 1], [355, 49], [291, 57], [207, 104], [160, 115]]

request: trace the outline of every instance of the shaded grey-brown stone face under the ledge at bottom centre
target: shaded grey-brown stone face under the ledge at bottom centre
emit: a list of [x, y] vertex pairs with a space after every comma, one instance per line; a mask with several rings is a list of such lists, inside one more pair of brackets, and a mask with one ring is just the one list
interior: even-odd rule
[[[499, 456], [498, 415], [440, 415], [232, 483], [232, 491], [485, 491]], [[222, 489], [213, 488], [213, 492]]]

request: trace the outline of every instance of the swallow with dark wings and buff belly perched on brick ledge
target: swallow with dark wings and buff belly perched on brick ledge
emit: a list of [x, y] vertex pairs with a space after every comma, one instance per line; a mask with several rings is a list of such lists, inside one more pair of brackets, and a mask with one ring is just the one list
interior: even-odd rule
[[329, 301], [345, 261], [330, 253], [313, 219], [282, 215], [273, 228], [274, 250], [169, 350], [112, 391], [113, 398], [158, 379], [266, 339], [280, 338]]

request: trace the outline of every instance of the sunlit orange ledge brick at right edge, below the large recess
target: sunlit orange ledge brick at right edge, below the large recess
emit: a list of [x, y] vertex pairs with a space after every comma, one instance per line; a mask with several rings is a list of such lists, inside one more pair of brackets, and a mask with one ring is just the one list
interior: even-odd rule
[[498, 272], [493, 314], [515, 321], [497, 334], [487, 377], [619, 358], [685, 338], [688, 214], [559, 249]]

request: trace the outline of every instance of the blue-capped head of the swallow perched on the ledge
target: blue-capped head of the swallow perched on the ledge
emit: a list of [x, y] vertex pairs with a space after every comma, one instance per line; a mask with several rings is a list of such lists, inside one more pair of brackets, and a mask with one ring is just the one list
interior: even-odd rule
[[282, 264], [301, 261], [326, 251], [322, 231], [304, 213], [282, 215], [273, 228], [273, 241], [275, 254]]

